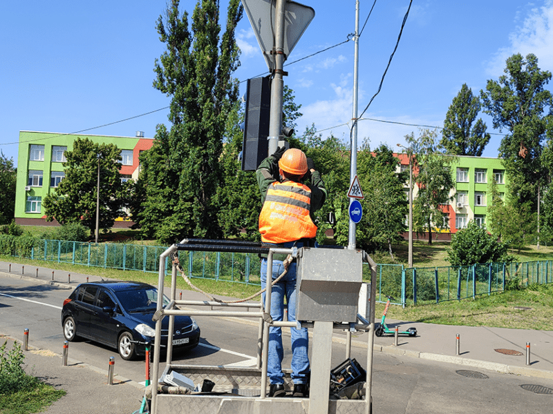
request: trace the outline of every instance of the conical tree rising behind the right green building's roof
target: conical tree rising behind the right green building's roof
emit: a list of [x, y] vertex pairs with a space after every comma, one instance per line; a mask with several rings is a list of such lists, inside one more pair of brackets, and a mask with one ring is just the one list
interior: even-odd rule
[[473, 95], [467, 83], [463, 83], [458, 95], [453, 98], [444, 120], [440, 145], [445, 148], [447, 154], [476, 157], [482, 155], [490, 135], [486, 132], [485, 122], [481, 118], [476, 120], [478, 112], [480, 99]]

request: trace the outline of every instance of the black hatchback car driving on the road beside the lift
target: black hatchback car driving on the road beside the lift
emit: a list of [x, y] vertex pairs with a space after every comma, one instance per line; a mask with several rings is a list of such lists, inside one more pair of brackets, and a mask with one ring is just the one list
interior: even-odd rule
[[[166, 306], [169, 300], [163, 296]], [[117, 348], [123, 359], [144, 355], [153, 344], [156, 323], [152, 321], [158, 289], [141, 282], [95, 282], [79, 284], [64, 300], [64, 337], [84, 337]], [[200, 341], [200, 328], [189, 316], [176, 316], [174, 349], [190, 349]], [[169, 317], [162, 320], [161, 345], [167, 346]]]

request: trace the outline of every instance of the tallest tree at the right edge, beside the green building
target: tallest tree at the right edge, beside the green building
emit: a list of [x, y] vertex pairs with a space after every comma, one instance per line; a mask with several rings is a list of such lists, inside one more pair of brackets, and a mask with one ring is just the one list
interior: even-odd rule
[[545, 184], [547, 168], [541, 156], [548, 134], [553, 136], [553, 97], [545, 89], [551, 72], [540, 70], [538, 58], [517, 54], [507, 59], [505, 75], [487, 81], [480, 92], [484, 112], [491, 115], [494, 128], [507, 130], [499, 155], [509, 175], [509, 204], [529, 205], [536, 211], [538, 186]]

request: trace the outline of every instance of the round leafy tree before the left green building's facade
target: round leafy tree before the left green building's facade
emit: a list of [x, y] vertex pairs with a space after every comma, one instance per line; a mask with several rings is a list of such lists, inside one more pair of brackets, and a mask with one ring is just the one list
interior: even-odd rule
[[96, 228], [97, 174], [100, 166], [100, 222], [103, 230], [113, 227], [113, 221], [123, 215], [119, 170], [121, 150], [113, 144], [96, 144], [88, 138], [73, 143], [66, 151], [65, 177], [54, 193], [48, 194], [42, 206], [46, 220], [59, 224], [81, 223], [94, 234]]

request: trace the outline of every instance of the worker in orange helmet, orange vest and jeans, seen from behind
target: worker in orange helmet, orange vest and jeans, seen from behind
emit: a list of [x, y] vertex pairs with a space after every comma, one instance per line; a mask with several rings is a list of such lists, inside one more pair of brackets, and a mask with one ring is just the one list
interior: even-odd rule
[[[315, 246], [317, 225], [313, 213], [324, 204], [326, 188], [320, 172], [315, 170], [312, 159], [297, 148], [279, 148], [264, 159], [256, 170], [261, 191], [259, 233], [264, 246], [291, 248]], [[273, 255], [272, 280], [285, 270], [283, 260], [287, 255]], [[267, 258], [261, 262], [261, 287], [267, 283]], [[288, 272], [272, 286], [270, 315], [274, 321], [282, 321], [284, 299], [288, 304], [288, 321], [296, 320], [296, 263], [288, 266]], [[263, 294], [265, 303], [265, 294]], [[307, 328], [290, 328], [292, 337], [293, 397], [309, 395], [309, 358]], [[282, 330], [269, 328], [268, 376], [269, 397], [284, 397]]]

